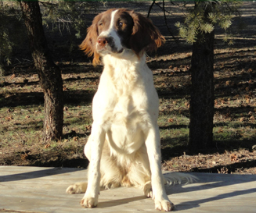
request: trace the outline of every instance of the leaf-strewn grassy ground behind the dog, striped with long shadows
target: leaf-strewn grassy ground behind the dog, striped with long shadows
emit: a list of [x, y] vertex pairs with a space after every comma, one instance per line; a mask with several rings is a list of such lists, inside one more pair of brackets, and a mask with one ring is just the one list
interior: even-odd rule
[[[149, 2], [139, 6], [132, 2], [127, 7], [136, 8], [146, 15], [149, 5]], [[107, 6], [119, 7], [117, 3]], [[166, 6], [171, 10], [169, 28], [178, 38], [174, 24], [182, 20], [183, 10], [175, 5]], [[191, 46], [180, 38], [175, 41], [167, 28], [160, 24], [164, 22], [160, 10], [157, 6], [153, 8], [150, 17], [167, 39], [157, 55], [150, 55], [147, 59], [160, 98], [158, 124], [164, 170], [256, 174], [255, 10], [254, 2], [245, 2], [241, 7], [241, 18], [233, 21], [232, 46], [222, 41], [223, 32], [216, 29], [213, 130], [216, 147], [198, 154], [190, 153], [186, 148]], [[237, 28], [240, 23], [243, 23], [243, 28]], [[49, 35], [48, 39], [52, 44]], [[102, 66], [93, 67], [90, 59], [79, 50], [67, 55], [65, 51], [59, 53], [57, 43], [55, 46], [53, 57], [63, 76], [63, 139], [41, 144], [43, 94], [30, 56], [20, 56], [19, 52], [17, 59], [5, 66], [1, 79], [0, 165], [81, 168], [88, 165], [83, 147], [91, 130], [92, 97], [96, 93]]]

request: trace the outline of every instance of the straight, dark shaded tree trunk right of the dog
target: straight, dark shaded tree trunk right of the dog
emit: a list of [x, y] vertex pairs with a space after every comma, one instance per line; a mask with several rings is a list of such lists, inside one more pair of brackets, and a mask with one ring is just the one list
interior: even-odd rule
[[[206, 10], [205, 17], [209, 11]], [[214, 147], [214, 41], [215, 33], [199, 32], [193, 43], [191, 59], [192, 90], [190, 101], [189, 149]]]

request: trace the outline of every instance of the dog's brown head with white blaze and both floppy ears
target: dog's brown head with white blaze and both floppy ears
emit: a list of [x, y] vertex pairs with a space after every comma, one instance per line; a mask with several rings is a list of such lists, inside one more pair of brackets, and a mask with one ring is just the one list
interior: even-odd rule
[[144, 51], [155, 51], [164, 41], [160, 31], [146, 17], [128, 9], [109, 9], [92, 21], [80, 48], [88, 56], [94, 56], [96, 65], [99, 55], [119, 55], [132, 49], [139, 57]]

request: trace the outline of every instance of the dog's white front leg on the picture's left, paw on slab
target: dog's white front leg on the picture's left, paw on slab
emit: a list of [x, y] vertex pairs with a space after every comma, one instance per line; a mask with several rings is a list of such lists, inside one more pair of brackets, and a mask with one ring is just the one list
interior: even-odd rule
[[[81, 200], [81, 206], [94, 208], [98, 204], [99, 181], [100, 181], [100, 158], [103, 151], [106, 132], [102, 125], [93, 122], [92, 133], [89, 137], [87, 148], [90, 152], [90, 165], [88, 167], [88, 186], [85, 196]], [[86, 147], [85, 147], [86, 149]], [[88, 152], [86, 150], [85, 152]]]

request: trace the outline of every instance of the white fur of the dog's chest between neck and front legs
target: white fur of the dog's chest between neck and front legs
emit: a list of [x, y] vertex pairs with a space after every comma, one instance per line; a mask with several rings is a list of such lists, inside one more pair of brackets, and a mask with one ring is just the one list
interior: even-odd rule
[[110, 146], [126, 154], [142, 146], [143, 130], [151, 125], [150, 111], [157, 112], [158, 108], [153, 75], [145, 56], [133, 57], [134, 60], [110, 55], [103, 58], [105, 66], [93, 100], [94, 122], [103, 124]]

